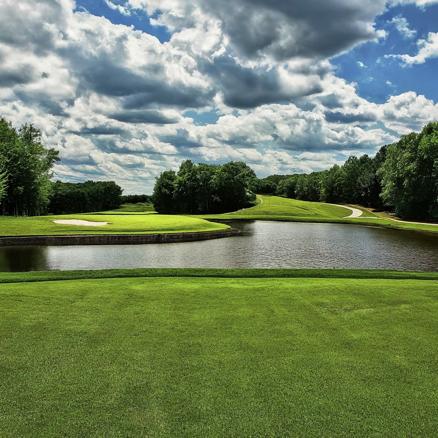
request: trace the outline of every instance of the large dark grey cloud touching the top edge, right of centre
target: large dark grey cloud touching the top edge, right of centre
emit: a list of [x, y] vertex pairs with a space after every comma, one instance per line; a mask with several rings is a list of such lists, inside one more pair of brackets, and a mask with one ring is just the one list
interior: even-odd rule
[[330, 57], [375, 38], [369, 24], [385, 0], [198, 0], [221, 20], [223, 32], [248, 57], [269, 51], [277, 59]]

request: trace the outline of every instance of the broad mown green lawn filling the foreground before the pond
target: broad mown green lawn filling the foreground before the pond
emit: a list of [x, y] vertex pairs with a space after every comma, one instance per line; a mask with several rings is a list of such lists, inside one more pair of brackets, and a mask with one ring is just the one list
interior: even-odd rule
[[2, 437], [436, 436], [436, 280], [77, 279], [0, 296]]

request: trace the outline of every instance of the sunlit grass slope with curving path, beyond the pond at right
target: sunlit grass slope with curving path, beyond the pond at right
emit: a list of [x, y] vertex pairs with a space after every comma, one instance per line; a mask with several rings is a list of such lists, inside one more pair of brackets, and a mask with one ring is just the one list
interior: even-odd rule
[[263, 203], [239, 212], [223, 215], [198, 215], [206, 219], [247, 219], [247, 220], [279, 220], [290, 222], [346, 223], [384, 228], [399, 228], [406, 230], [422, 230], [438, 232], [438, 226], [427, 224], [403, 223], [387, 219], [365, 208], [358, 208], [364, 216], [371, 218], [350, 218], [351, 210], [322, 202], [307, 202], [297, 199], [280, 198], [278, 196], [257, 195]]

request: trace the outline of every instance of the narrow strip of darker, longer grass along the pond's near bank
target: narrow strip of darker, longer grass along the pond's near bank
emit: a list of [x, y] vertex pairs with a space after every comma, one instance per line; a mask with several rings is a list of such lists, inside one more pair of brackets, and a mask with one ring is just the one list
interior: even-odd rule
[[0, 272], [0, 283], [153, 277], [438, 280], [438, 272], [383, 269], [137, 268], [89, 271]]

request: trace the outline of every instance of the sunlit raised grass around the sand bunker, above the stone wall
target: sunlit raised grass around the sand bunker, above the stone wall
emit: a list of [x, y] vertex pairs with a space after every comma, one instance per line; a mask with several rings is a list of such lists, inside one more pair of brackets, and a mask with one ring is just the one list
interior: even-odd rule
[[[91, 222], [108, 222], [104, 226], [61, 225], [56, 219], [83, 219]], [[51, 234], [131, 234], [179, 233], [212, 231], [229, 228], [204, 219], [177, 215], [146, 213], [78, 214], [58, 216], [18, 217], [0, 216], [0, 236], [51, 235]]]

